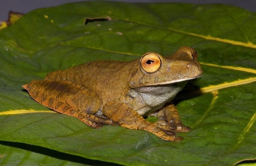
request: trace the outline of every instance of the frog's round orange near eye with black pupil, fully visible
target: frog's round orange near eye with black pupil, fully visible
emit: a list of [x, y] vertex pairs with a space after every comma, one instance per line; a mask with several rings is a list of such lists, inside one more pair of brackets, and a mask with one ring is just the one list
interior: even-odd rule
[[141, 68], [146, 73], [154, 73], [161, 66], [160, 57], [153, 53], [146, 53], [140, 60]]

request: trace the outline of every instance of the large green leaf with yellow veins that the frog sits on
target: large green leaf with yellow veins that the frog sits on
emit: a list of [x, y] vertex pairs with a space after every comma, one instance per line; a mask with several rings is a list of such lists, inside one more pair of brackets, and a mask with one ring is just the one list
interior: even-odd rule
[[[90, 21], [84, 24], [86, 18]], [[125, 165], [231, 165], [256, 159], [255, 29], [255, 13], [220, 4], [94, 1], [30, 12], [0, 31], [3, 151], [36, 153], [19, 145], [30, 144], [84, 157], [83, 164], [93, 159]], [[197, 50], [204, 76], [177, 97], [183, 123], [192, 127], [179, 134], [185, 138], [181, 142], [123, 127], [92, 129], [35, 102], [21, 87], [86, 61], [128, 61], [148, 51], [168, 55], [183, 45]], [[9, 150], [6, 141], [16, 142], [18, 149]], [[34, 164], [41, 163], [43, 156], [37, 155], [32, 155]], [[0, 154], [0, 165], [5, 161]]]

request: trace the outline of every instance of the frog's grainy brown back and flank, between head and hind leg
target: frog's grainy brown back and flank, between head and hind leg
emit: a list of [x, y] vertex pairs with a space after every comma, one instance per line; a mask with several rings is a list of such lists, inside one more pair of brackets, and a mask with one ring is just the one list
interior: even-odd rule
[[48, 73], [45, 79], [71, 81], [96, 93], [101, 101], [124, 95], [132, 61], [91, 61], [67, 70]]

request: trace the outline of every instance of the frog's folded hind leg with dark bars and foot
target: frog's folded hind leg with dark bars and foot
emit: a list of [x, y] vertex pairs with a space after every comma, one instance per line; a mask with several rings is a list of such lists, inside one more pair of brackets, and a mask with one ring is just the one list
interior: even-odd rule
[[76, 117], [95, 129], [103, 124], [119, 125], [111, 119], [93, 115], [100, 109], [100, 100], [95, 93], [80, 85], [69, 81], [33, 80], [23, 87], [35, 101], [61, 114]]

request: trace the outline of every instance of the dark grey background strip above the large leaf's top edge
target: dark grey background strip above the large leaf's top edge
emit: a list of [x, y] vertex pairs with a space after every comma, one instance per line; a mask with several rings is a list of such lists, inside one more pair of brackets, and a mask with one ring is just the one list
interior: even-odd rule
[[[0, 21], [8, 19], [8, 12], [27, 13], [42, 7], [56, 6], [79, 0], [0, 0]], [[82, 1], [82, 0], [80, 0]], [[243, 7], [256, 12], [256, 0], [115, 0], [124, 2], [184, 2], [184, 3], [224, 3]]]

